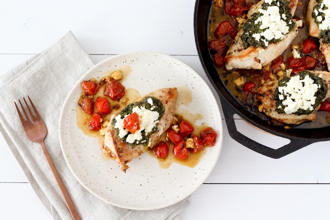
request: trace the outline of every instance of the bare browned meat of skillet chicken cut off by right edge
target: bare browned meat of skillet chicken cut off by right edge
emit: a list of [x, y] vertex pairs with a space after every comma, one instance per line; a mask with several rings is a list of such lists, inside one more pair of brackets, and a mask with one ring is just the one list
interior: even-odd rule
[[[319, 26], [315, 22], [315, 18], [313, 18], [313, 8], [317, 5], [316, 0], [310, 0], [306, 9], [306, 24], [308, 27], [308, 34], [312, 37], [319, 38], [320, 29]], [[322, 43], [322, 39], [320, 39], [320, 50], [326, 57], [326, 62], [328, 64], [328, 70], [330, 71], [330, 44]]]

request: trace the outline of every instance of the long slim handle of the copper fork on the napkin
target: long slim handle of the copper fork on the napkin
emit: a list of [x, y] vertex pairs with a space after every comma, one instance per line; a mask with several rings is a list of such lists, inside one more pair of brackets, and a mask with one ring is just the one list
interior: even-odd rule
[[68, 194], [68, 192], [67, 192], [67, 190], [66, 190], [66, 188], [65, 188], [65, 186], [64, 186], [64, 184], [62, 182], [61, 177], [57, 173], [57, 170], [56, 170], [56, 168], [54, 166], [53, 161], [51, 160], [51, 158], [49, 156], [49, 153], [48, 153], [48, 151], [46, 149], [46, 146], [43, 143], [43, 140], [39, 144], [40, 144], [41, 149], [43, 151], [43, 154], [44, 154], [44, 156], [45, 156], [45, 158], [46, 158], [46, 160], [48, 162], [48, 165], [50, 167], [50, 170], [53, 173], [53, 175], [55, 176], [56, 182], [57, 182], [58, 186], [60, 187], [60, 190], [62, 192], [62, 195], [63, 195], [64, 200], [65, 200], [65, 202], [66, 202], [66, 204], [68, 206], [68, 209], [69, 209], [69, 211], [71, 213], [71, 216], [72, 216], [73, 220], [80, 220], [80, 217], [78, 215], [78, 212], [77, 212], [75, 206], [73, 205], [73, 203], [72, 203], [72, 201], [70, 199], [70, 196], [69, 196], [69, 194]]

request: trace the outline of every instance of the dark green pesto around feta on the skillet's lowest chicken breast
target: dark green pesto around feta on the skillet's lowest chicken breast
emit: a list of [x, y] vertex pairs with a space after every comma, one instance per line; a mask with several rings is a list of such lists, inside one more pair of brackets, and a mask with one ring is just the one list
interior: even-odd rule
[[[308, 75], [309, 78], [314, 80], [314, 84], [320, 85], [320, 88], [318, 88], [317, 92], [314, 95], [314, 96], [316, 96], [315, 104], [312, 105], [314, 110], [310, 111], [310, 110], [298, 109], [298, 111], [293, 113], [293, 114], [296, 114], [296, 115], [305, 115], [305, 114], [308, 115], [308, 114], [311, 114], [312, 112], [314, 112], [316, 110], [316, 107], [322, 103], [323, 99], [326, 97], [328, 86], [322, 78], [312, 74], [311, 72], [309, 72], [307, 70], [301, 71], [297, 75], [299, 75], [300, 80], [304, 79], [305, 76]], [[284, 77], [283, 80], [279, 81], [279, 87], [287, 86], [287, 83], [289, 82], [289, 80], [290, 80], [289, 77]], [[287, 98], [287, 96], [284, 95], [284, 100], [286, 98]], [[282, 104], [282, 102], [284, 100], [280, 100], [280, 98], [279, 98], [279, 88], [276, 88], [276, 90], [275, 90], [274, 99], [276, 100], [276, 106], [277, 107], [279, 107], [279, 106], [282, 107], [282, 108], [277, 108], [277, 112], [278, 113], [285, 113], [284, 108], [286, 106]]]

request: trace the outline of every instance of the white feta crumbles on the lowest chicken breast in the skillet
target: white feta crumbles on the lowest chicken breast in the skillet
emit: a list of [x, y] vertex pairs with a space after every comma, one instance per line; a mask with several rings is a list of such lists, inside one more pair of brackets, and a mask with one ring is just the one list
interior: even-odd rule
[[[316, 96], [315, 93], [319, 86], [314, 84], [314, 80], [309, 76], [305, 76], [300, 80], [300, 76], [294, 76], [287, 82], [287, 86], [279, 87], [279, 98], [286, 95], [286, 98], [282, 101], [282, 104], [286, 106], [284, 112], [286, 114], [295, 113], [298, 109], [314, 110]], [[284, 98], [284, 96], [283, 96]]]

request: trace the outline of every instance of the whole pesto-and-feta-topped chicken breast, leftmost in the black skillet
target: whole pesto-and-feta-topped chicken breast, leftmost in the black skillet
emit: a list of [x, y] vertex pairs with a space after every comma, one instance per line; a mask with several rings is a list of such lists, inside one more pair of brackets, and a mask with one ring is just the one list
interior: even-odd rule
[[261, 69], [281, 55], [298, 34], [292, 19], [298, 0], [261, 0], [251, 6], [224, 58], [226, 69]]

